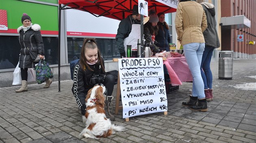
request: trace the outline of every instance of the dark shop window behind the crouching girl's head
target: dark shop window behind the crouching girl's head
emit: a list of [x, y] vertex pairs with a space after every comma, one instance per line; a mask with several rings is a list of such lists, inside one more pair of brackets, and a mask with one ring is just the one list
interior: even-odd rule
[[[68, 63], [70, 63], [75, 56], [80, 58], [80, 52], [84, 39], [85, 38], [67, 38]], [[119, 50], [115, 44], [115, 39], [96, 38], [96, 42], [104, 60], [112, 60], [113, 58], [120, 57]]]

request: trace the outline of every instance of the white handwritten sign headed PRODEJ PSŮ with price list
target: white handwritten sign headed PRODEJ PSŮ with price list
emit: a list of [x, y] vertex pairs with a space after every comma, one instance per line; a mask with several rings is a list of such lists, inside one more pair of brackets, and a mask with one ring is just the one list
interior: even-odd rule
[[162, 58], [119, 59], [123, 118], [167, 111]]

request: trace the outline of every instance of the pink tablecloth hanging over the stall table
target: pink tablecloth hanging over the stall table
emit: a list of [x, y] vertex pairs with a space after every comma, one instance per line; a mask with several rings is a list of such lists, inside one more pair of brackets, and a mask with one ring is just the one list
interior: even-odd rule
[[167, 67], [172, 86], [182, 85], [182, 82], [193, 81], [193, 77], [184, 56], [168, 57], [163, 63]]

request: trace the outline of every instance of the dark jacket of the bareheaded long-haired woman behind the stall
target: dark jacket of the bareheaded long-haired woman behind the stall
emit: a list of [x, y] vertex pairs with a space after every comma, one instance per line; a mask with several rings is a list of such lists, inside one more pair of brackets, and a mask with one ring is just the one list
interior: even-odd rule
[[169, 43], [171, 43], [171, 36], [169, 33], [169, 29], [166, 29], [164, 23], [158, 22], [157, 25], [159, 27], [158, 34], [156, 35], [156, 41], [158, 42], [158, 47], [161, 50], [166, 50], [168, 52], [170, 51]]

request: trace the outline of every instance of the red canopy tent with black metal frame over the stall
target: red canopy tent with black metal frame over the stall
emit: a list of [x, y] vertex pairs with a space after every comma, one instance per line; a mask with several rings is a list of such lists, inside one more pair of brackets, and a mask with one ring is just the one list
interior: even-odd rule
[[[148, 2], [148, 9], [154, 8], [156, 13], [176, 12], [178, 0], [145, 0]], [[63, 4], [64, 6], [61, 6]], [[60, 86], [60, 65], [61, 65], [61, 10], [78, 9], [91, 13], [95, 17], [109, 17], [122, 20], [132, 14], [133, 5], [138, 4], [138, 0], [59, 0], [59, 91]], [[141, 17], [141, 35], [143, 36], [143, 17]], [[141, 38], [142, 42], [142, 38]], [[143, 44], [141, 45], [143, 49]]]

